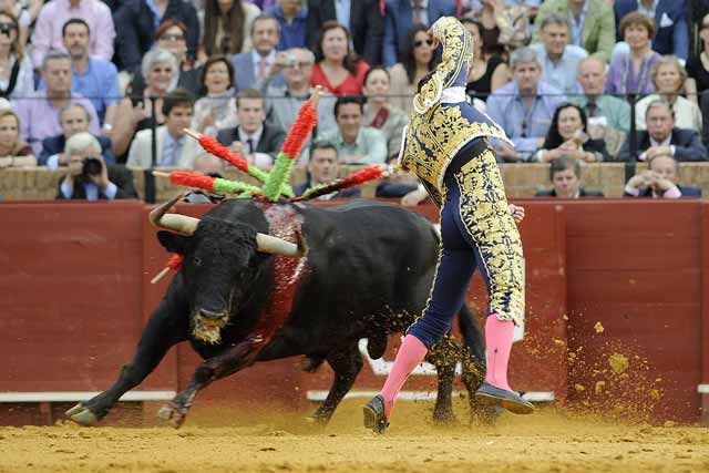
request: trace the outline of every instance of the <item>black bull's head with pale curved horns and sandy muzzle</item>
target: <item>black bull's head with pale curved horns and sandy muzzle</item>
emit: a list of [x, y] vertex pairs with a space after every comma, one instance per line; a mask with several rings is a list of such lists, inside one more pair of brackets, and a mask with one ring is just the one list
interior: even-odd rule
[[243, 223], [166, 214], [178, 195], [151, 212], [157, 238], [168, 251], [183, 256], [182, 273], [189, 302], [192, 332], [198, 340], [218, 343], [229, 316], [250, 300], [263, 254], [299, 258], [307, 253], [302, 236], [298, 245], [258, 233]]

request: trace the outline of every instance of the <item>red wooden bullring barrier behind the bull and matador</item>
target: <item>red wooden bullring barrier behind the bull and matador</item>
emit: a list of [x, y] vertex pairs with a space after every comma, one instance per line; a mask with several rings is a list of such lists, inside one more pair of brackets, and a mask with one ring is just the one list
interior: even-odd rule
[[[524, 205], [527, 326], [513, 350], [513, 385], [551, 391], [584, 409], [698, 420], [697, 385], [709, 383], [707, 206]], [[114, 381], [167, 285], [150, 285], [167, 253], [147, 224], [148, 210], [137, 202], [0, 205], [0, 394], [102, 390]], [[480, 312], [483, 292], [475, 280], [470, 299]], [[330, 377], [327, 370], [302, 373], [297, 361], [249, 368], [215, 383], [197, 402], [299, 407]], [[183, 345], [142, 389], [184, 388], [197, 362]], [[382, 381], [368, 366], [357, 388], [374, 390]], [[430, 377], [417, 377], [407, 389], [432, 385]], [[0, 404], [0, 423], [9, 419], [6, 408]], [[21, 419], [51, 419], [48, 409]]]

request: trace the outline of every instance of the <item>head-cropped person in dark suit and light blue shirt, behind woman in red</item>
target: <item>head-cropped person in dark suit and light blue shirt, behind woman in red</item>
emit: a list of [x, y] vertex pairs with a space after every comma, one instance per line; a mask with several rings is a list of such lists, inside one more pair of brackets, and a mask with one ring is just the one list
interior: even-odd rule
[[308, 0], [306, 44], [310, 50], [315, 50], [320, 27], [330, 20], [350, 31], [354, 51], [368, 64], [381, 63], [384, 18], [379, 0]]

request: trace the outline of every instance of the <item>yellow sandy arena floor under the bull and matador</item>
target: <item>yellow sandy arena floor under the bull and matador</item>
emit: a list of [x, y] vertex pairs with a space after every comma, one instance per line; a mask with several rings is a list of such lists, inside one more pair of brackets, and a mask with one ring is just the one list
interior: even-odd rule
[[431, 404], [402, 402], [376, 436], [361, 426], [361, 403], [345, 402], [315, 431], [291, 414], [219, 428], [199, 413], [178, 431], [0, 428], [0, 472], [709, 472], [702, 428], [618, 425], [551, 409], [505, 414], [492, 428], [434, 428]]

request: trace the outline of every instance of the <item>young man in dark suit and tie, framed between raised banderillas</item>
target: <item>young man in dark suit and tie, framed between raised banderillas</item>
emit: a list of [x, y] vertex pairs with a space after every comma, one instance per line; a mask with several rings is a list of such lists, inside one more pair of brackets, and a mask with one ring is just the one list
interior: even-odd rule
[[239, 125], [217, 133], [217, 141], [234, 153], [263, 169], [270, 169], [286, 140], [286, 133], [266, 122], [264, 95], [255, 89], [236, 94], [236, 115]]

